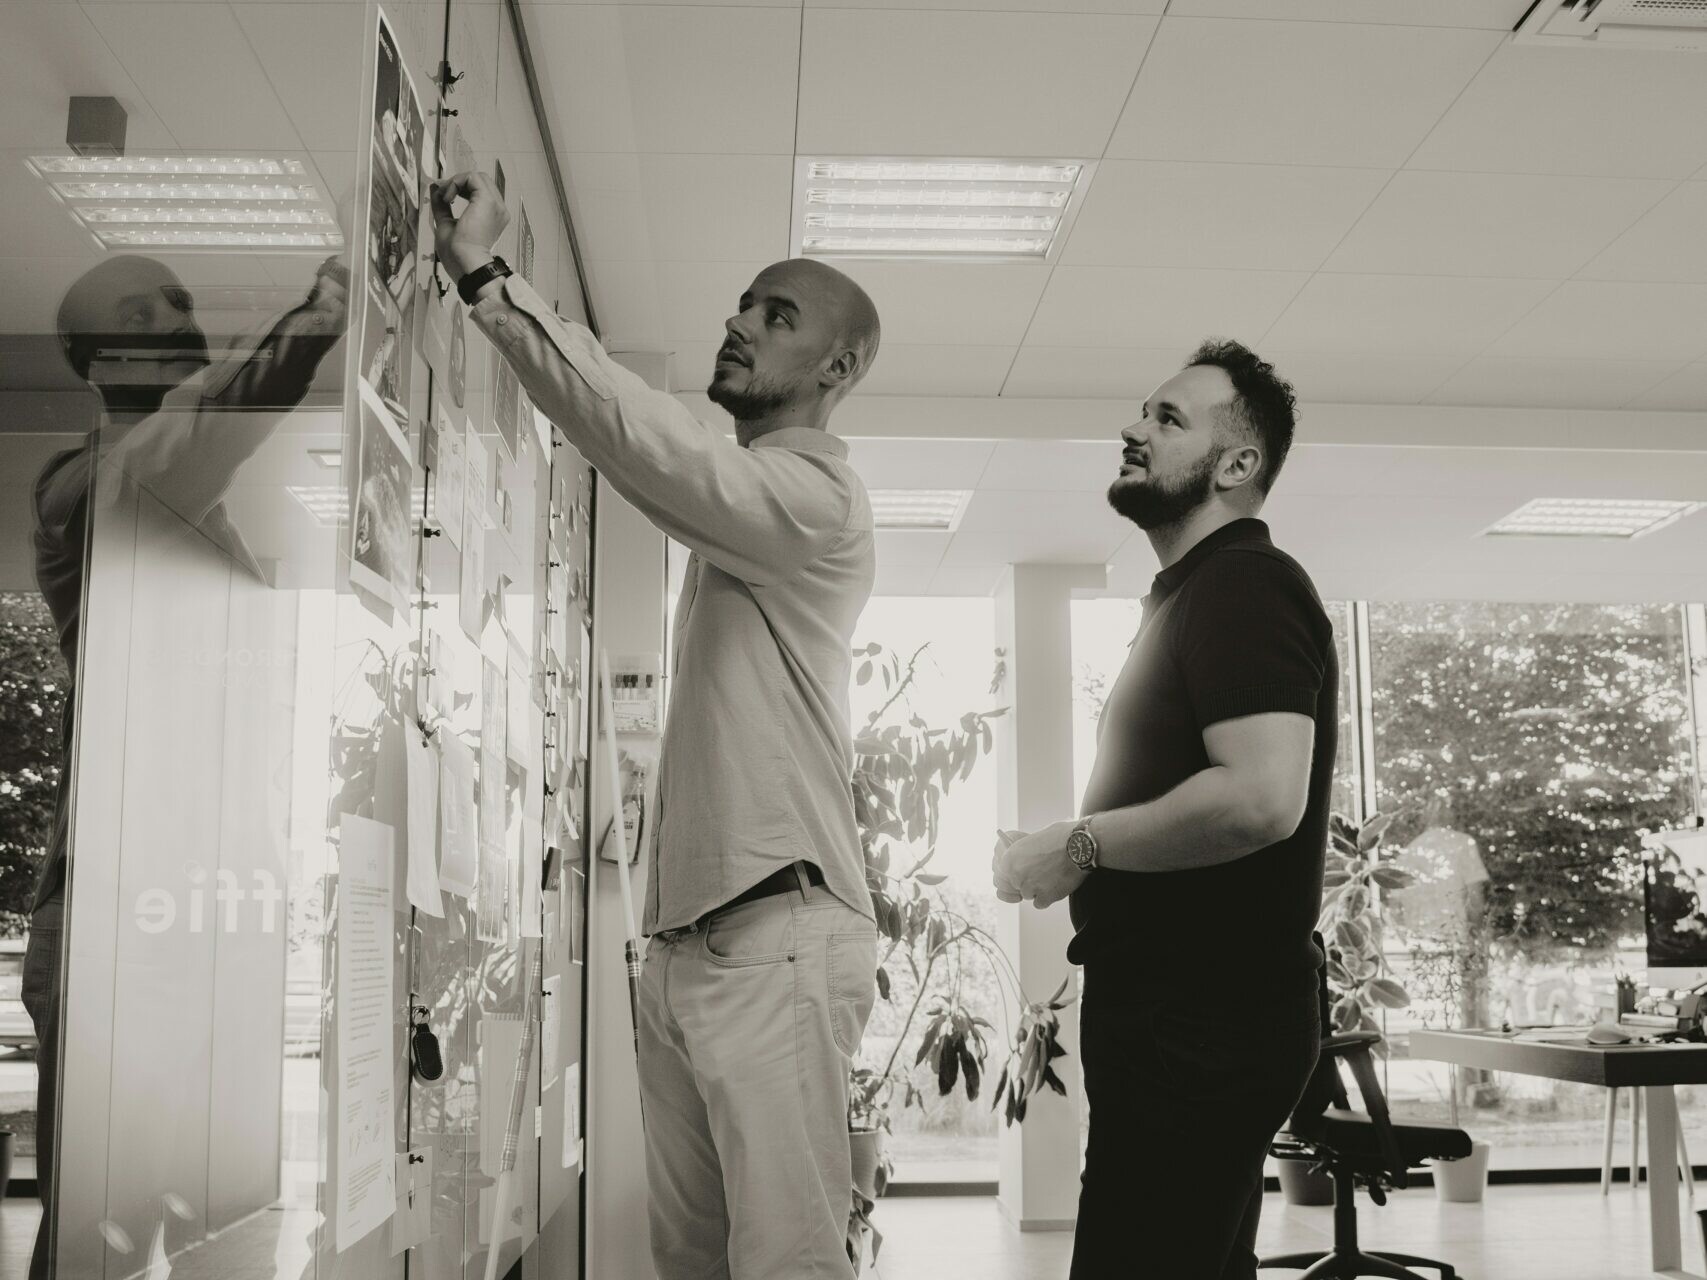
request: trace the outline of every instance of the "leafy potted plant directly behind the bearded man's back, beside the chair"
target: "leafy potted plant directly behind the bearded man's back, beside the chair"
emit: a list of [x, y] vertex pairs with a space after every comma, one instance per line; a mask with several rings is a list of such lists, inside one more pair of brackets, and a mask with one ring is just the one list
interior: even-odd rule
[[[1410, 876], [1381, 860], [1381, 836], [1396, 814], [1357, 824], [1343, 814], [1328, 817], [1328, 858], [1323, 872], [1321, 916], [1316, 930], [1326, 942], [1328, 998], [1333, 1031], [1381, 1031], [1378, 1009], [1403, 1009], [1410, 995], [1393, 978], [1383, 949], [1378, 908], [1381, 889], [1403, 889]], [[1386, 1055], [1386, 1043], [1376, 1046]], [[1280, 1161], [1280, 1190], [1294, 1205], [1331, 1205], [1333, 1179], [1304, 1161]]]

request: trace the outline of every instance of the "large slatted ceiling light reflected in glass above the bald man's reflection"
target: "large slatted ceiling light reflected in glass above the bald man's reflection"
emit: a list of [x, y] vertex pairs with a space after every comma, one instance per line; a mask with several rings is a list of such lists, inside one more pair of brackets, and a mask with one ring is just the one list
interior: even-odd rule
[[316, 253], [343, 246], [302, 160], [220, 155], [32, 155], [29, 167], [109, 249]]

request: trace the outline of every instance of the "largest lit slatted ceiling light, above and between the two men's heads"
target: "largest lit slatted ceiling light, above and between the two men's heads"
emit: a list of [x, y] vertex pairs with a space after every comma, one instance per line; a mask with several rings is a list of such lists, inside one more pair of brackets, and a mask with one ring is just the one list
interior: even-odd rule
[[794, 253], [804, 258], [1050, 261], [1091, 181], [1084, 160], [801, 157]]

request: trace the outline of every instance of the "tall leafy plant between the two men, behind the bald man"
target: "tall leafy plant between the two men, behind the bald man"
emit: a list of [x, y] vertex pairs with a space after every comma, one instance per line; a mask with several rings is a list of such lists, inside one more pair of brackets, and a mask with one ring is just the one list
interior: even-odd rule
[[[1065, 1055], [1058, 1036], [1060, 1012], [1070, 1004], [1067, 981], [1048, 1000], [1031, 1000], [988, 930], [944, 901], [941, 889], [947, 877], [927, 870], [937, 852], [942, 797], [990, 754], [995, 741], [990, 722], [1007, 712], [1005, 707], [966, 712], [951, 729], [927, 724], [910, 701], [927, 649], [915, 650], [905, 666], [883, 645], [855, 650], [862, 659], [857, 683], [883, 679], [888, 695], [854, 742], [854, 816], [881, 939], [877, 995], [886, 1002], [901, 995], [905, 1004], [886, 1060], [855, 1070], [848, 1094], [855, 1186], [848, 1256], [855, 1271], [867, 1232], [874, 1258], [883, 1242], [871, 1212], [893, 1172], [884, 1138], [893, 1132], [894, 1113], [925, 1108], [932, 1096], [963, 1094], [975, 1103], [990, 1075], [990, 1041], [997, 1033], [970, 1000], [970, 968], [985, 966], [993, 976], [1005, 1024], [992, 1109], [1002, 1108], [1004, 1121], [1012, 1125], [1024, 1120], [1038, 1089], [1067, 1092], [1053, 1067]], [[999, 666], [992, 693], [1000, 684]], [[920, 1073], [929, 1077], [923, 1087]]]

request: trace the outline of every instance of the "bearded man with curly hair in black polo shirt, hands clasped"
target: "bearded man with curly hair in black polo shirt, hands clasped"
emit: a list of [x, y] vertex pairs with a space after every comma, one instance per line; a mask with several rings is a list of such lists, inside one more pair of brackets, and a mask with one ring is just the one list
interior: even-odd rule
[[1333, 625], [1258, 519], [1292, 387], [1207, 341], [1108, 490], [1161, 572], [1081, 817], [1004, 836], [1005, 901], [1072, 899], [1091, 1137], [1072, 1280], [1255, 1280], [1263, 1157], [1316, 1063]]

